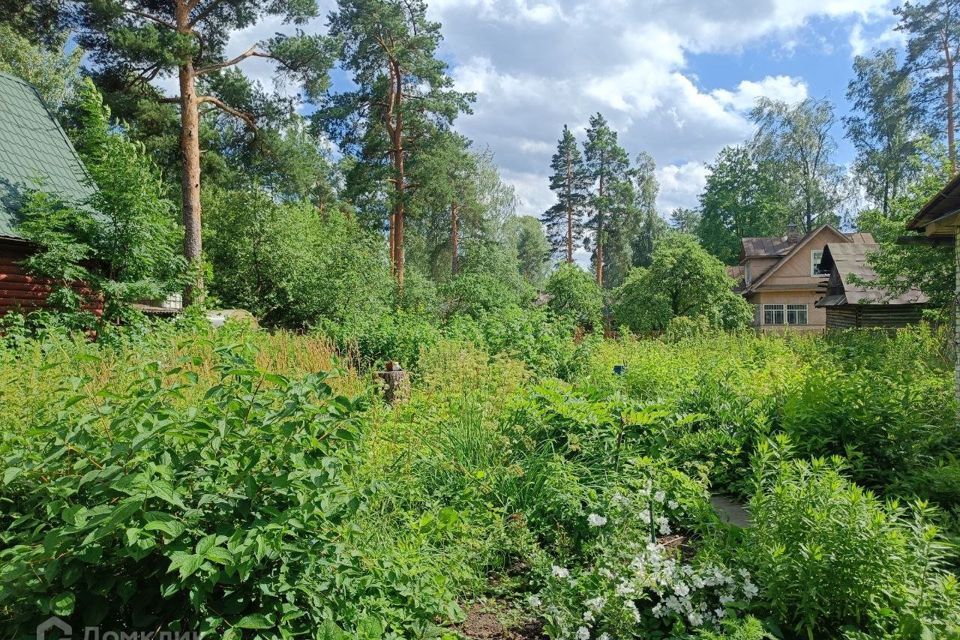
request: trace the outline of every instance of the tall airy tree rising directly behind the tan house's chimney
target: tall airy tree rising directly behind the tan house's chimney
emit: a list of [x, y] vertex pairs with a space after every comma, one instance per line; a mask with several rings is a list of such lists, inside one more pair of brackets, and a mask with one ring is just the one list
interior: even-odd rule
[[795, 104], [760, 98], [751, 118], [757, 124], [751, 150], [786, 189], [798, 214], [792, 222], [808, 232], [819, 224], [838, 223], [843, 172], [833, 161], [833, 106], [812, 98]]

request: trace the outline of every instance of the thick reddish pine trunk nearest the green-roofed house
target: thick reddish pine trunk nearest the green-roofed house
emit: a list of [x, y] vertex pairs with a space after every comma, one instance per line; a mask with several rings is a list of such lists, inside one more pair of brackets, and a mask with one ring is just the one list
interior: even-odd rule
[[[177, 31], [188, 33], [190, 13], [184, 2], [176, 6]], [[197, 101], [196, 73], [193, 61], [180, 66], [180, 156], [183, 161], [181, 185], [183, 199], [183, 255], [191, 270], [191, 281], [183, 292], [183, 303], [198, 301], [203, 291], [200, 259], [203, 240], [200, 233], [200, 105]]]

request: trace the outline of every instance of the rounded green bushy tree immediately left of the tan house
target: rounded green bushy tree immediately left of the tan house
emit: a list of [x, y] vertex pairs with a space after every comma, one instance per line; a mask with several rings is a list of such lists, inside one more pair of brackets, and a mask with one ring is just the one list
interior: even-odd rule
[[723, 264], [691, 236], [674, 234], [654, 251], [648, 268], [634, 269], [613, 294], [613, 318], [631, 331], [663, 331], [676, 317], [703, 317], [710, 326], [739, 329], [752, 317], [732, 290]]

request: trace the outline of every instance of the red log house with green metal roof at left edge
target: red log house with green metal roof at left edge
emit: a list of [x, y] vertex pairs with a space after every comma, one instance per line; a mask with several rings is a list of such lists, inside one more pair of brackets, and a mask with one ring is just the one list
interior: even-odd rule
[[[36, 90], [0, 73], [0, 315], [42, 308], [57, 284], [31, 276], [21, 264], [36, 249], [17, 230], [22, 200], [30, 189], [81, 203], [94, 187]], [[84, 290], [82, 283], [74, 286]], [[101, 311], [96, 299], [88, 308]]]

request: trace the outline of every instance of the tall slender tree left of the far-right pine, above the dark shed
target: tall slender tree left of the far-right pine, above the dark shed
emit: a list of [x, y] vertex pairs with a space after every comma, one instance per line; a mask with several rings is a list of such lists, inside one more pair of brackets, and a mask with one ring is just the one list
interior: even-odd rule
[[857, 56], [853, 71], [847, 88], [853, 112], [843, 121], [857, 150], [854, 171], [867, 197], [887, 215], [919, 170], [920, 110], [895, 49]]

